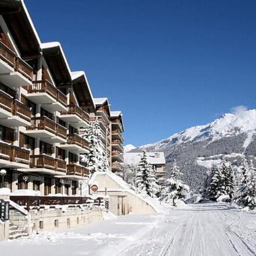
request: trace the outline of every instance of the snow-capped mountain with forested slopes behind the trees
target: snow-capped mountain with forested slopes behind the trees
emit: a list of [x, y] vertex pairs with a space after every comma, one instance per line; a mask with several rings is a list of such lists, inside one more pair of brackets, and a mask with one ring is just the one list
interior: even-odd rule
[[143, 149], [165, 152], [167, 176], [176, 159], [184, 181], [192, 187], [201, 187], [207, 168], [214, 162], [227, 159], [236, 167], [243, 156], [255, 161], [256, 109], [239, 106], [233, 113], [226, 113], [207, 125], [190, 127], [132, 151]]

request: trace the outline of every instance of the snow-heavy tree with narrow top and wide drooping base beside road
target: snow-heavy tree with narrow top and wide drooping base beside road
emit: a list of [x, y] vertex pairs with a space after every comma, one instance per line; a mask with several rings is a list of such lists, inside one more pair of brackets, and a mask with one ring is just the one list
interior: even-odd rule
[[176, 199], [182, 199], [186, 197], [186, 194], [189, 193], [189, 186], [184, 184], [180, 180], [179, 166], [177, 166], [176, 161], [173, 163], [171, 168], [170, 178], [166, 179], [165, 188], [161, 192], [161, 200], [165, 202], [171, 202], [173, 205], [176, 205]]

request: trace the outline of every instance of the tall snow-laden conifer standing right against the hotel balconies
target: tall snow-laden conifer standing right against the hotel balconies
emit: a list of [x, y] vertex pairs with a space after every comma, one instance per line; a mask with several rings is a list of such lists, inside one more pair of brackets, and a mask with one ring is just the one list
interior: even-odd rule
[[83, 129], [81, 137], [89, 141], [89, 153], [80, 155], [80, 163], [86, 166], [90, 173], [102, 172], [108, 169], [106, 157], [101, 141], [101, 127], [98, 120], [95, 120], [91, 125]]

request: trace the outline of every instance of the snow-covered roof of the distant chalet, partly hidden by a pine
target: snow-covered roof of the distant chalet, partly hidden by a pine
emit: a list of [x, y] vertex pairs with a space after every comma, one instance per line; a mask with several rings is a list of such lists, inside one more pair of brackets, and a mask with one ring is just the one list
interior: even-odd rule
[[[141, 159], [141, 152], [125, 152], [123, 153], [124, 162], [127, 165], [137, 165]], [[148, 162], [152, 165], [165, 164], [165, 155], [163, 152], [147, 152]]]

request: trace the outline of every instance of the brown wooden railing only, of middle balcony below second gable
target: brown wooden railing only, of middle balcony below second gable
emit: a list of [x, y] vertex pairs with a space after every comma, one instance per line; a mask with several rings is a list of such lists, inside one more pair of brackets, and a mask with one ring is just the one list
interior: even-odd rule
[[27, 130], [47, 130], [62, 138], [66, 138], [67, 136], [67, 130], [65, 127], [55, 123], [46, 116], [31, 118], [31, 126], [27, 126]]

